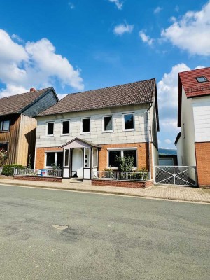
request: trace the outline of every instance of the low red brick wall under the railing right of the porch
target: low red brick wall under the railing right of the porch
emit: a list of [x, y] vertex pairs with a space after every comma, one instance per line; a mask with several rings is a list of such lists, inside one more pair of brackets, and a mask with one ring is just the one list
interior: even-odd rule
[[153, 180], [134, 182], [134, 181], [112, 181], [112, 180], [91, 180], [93, 186], [112, 186], [124, 188], [148, 188], [153, 186]]

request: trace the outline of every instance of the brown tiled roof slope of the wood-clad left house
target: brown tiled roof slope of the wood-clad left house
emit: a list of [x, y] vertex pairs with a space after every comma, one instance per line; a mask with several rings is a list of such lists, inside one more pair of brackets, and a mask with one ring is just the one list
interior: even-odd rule
[[[34, 92], [25, 92], [22, 94], [3, 97], [0, 99], [0, 116], [6, 116], [13, 113], [22, 113], [29, 106], [38, 101], [43, 95], [53, 90], [53, 87], [36, 90]], [[55, 91], [54, 91], [55, 92]], [[55, 94], [56, 95], [56, 94]]]

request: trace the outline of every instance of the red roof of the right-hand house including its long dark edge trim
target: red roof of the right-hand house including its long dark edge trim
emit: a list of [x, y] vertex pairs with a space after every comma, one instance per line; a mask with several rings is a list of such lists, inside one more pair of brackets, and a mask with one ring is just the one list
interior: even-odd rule
[[[206, 77], [207, 81], [199, 83], [197, 77]], [[179, 73], [178, 88], [178, 127], [181, 127], [182, 87], [187, 98], [207, 96], [210, 94], [210, 67]]]

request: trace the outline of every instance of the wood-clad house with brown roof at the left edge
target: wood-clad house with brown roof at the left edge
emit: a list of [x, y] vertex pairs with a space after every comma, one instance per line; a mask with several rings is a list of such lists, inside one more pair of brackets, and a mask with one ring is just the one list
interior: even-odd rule
[[27, 166], [34, 161], [36, 119], [34, 116], [58, 102], [52, 87], [0, 99], [0, 149], [7, 152], [5, 164]]

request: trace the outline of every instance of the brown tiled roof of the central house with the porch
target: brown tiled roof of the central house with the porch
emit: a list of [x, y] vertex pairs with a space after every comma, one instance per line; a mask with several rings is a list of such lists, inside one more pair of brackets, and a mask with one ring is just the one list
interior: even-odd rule
[[99, 90], [68, 94], [38, 116], [155, 102], [155, 78]]

